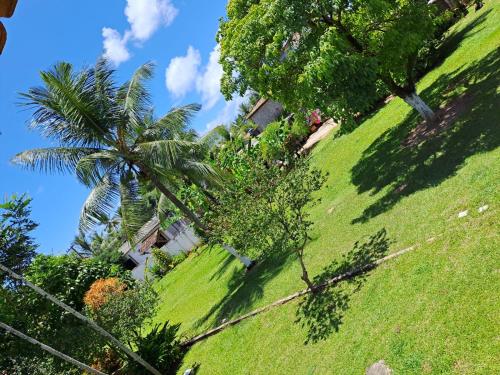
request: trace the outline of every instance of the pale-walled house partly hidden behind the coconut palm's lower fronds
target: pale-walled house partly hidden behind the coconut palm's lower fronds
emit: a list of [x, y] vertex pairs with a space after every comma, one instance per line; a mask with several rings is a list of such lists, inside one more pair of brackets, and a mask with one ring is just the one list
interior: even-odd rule
[[187, 222], [179, 220], [166, 230], [161, 229], [160, 220], [154, 217], [148, 221], [136, 235], [136, 245], [132, 248], [129, 242], [120, 247], [125, 258], [124, 266], [132, 271], [136, 280], [144, 280], [146, 267], [151, 266], [151, 250], [159, 248], [162, 251], [177, 255], [180, 252], [188, 253], [201, 243], [194, 230]]

